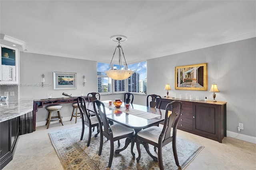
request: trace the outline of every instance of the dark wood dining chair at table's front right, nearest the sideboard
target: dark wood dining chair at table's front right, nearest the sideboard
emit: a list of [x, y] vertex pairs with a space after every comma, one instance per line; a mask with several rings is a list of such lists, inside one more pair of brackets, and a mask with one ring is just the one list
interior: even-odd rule
[[166, 106], [163, 128], [152, 126], [142, 129], [137, 133], [136, 146], [139, 154], [138, 158], [136, 159], [137, 162], [140, 161], [141, 156], [140, 144], [143, 144], [144, 148], [149, 154], [150, 152], [148, 150], [148, 144], [152, 144], [153, 146], [156, 146], [158, 148], [158, 163], [160, 170], [163, 170], [164, 166], [162, 159], [162, 147], [172, 142], [172, 150], [175, 163], [177, 166], [179, 166], [176, 150], [176, 132], [181, 109], [182, 103], [180, 101], [172, 101], [171, 103], [168, 103], [168, 105]]

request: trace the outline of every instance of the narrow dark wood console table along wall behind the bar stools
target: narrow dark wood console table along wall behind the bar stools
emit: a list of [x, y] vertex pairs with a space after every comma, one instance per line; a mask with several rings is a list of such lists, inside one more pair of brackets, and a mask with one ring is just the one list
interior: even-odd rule
[[[87, 96], [84, 97], [87, 100]], [[55, 99], [39, 99], [34, 100], [33, 104], [33, 131], [36, 131], [36, 112], [39, 108], [43, 108], [44, 105], [54, 105], [61, 103], [75, 103], [77, 101], [77, 97], [62, 97]]]

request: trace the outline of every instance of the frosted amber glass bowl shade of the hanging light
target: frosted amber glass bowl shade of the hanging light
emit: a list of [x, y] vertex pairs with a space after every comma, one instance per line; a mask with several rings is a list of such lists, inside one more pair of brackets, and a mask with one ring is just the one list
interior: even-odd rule
[[114, 80], [124, 80], [130, 77], [134, 71], [132, 70], [108, 70], [106, 75]]

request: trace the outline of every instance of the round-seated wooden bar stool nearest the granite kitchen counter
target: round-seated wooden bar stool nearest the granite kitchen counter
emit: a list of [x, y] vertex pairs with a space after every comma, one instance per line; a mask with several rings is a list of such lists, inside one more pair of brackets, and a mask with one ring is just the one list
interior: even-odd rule
[[[47, 119], [47, 122], [46, 122], [46, 125], [48, 125], [47, 128], [50, 127], [50, 122], [51, 121], [60, 121], [60, 123], [63, 126], [62, 117], [60, 116], [60, 109], [61, 108], [62, 108], [62, 105], [49, 105], [49, 106], [46, 107], [47, 111], [49, 112], [48, 113], [48, 119]], [[52, 112], [57, 112], [58, 116], [53, 116], [52, 117]]]

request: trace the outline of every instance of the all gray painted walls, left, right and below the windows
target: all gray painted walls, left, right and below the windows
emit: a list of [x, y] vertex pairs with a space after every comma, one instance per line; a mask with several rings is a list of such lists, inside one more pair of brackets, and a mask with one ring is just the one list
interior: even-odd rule
[[[242, 40], [234, 43], [217, 45], [204, 49], [188, 51], [175, 55], [168, 55], [147, 61], [147, 93], [166, 95], [164, 87], [170, 83], [170, 97], [174, 93], [189, 93], [203, 99], [205, 96], [212, 99], [209, 92], [211, 84], [217, 83], [220, 93], [216, 94], [217, 101], [226, 101], [227, 104], [227, 130], [238, 132], [238, 123], [244, 123], [241, 134], [256, 137], [256, 38]], [[208, 91], [184, 91], [174, 88], [175, 66], [208, 63]], [[62, 92], [73, 96], [80, 91], [87, 94], [97, 91], [97, 62], [81, 59], [71, 59], [50, 55], [33, 53], [20, 53], [20, 83], [40, 83], [41, 75], [45, 75], [45, 83], [53, 85], [53, 71], [77, 73], [76, 90], [53, 90], [51, 87], [20, 87], [20, 98], [34, 97], [44, 99], [47, 93], [53, 97], [63, 97]], [[82, 76], [85, 75], [86, 86], [82, 85]], [[156, 83], [157, 82], [157, 83]], [[134, 103], [146, 105], [146, 95], [135, 95]], [[114, 100], [123, 98], [123, 95], [102, 95], [101, 100]], [[65, 104], [62, 116], [71, 115], [71, 104]], [[45, 121], [45, 109], [37, 112], [37, 122]]]

